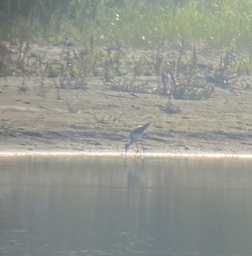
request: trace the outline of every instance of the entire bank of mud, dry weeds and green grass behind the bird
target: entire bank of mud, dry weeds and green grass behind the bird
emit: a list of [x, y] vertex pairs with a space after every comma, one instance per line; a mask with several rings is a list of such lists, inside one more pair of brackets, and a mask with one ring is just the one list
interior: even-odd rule
[[0, 150], [251, 152], [251, 0], [0, 1]]

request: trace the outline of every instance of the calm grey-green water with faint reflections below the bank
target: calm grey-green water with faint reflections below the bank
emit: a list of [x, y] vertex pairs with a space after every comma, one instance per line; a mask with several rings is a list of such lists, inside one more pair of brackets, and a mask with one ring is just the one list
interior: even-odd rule
[[0, 158], [0, 255], [252, 255], [252, 160]]

